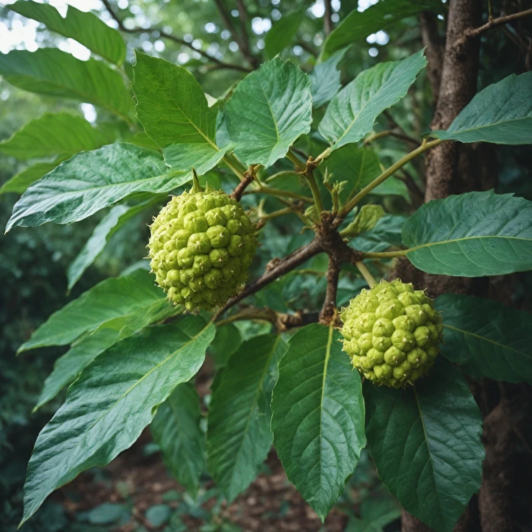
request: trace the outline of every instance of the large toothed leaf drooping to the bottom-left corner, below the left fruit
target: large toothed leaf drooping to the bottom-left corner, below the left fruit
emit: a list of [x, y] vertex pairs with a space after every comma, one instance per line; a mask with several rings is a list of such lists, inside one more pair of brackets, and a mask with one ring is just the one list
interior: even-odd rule
[[212, 323], [188, 316], [143, 329], [96, 357], [37, 438], [21, 524], [53, 490], [130, 447], [177, 384], [197, 373], [213, 337]]

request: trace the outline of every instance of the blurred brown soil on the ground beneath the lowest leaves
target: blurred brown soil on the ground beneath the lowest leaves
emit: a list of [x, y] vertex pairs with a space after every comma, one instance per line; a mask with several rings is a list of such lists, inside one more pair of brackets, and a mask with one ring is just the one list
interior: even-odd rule
[[[116, 532], [133, 532], [139, 525], [148, 530], [159, 530], [145, 519], [145, 511], [154, 504], [163, 504], [163, 495], [169, 490], [183, 488], [170, 477], [159, 454], [143, 456], [143, 447], [150, 442], [149, 431], [129, 450], [120, 454], [103, 468], [103, 480], [94, 478], [91, 472], [80, 475], [71, 484], [59, 490], [54, 498], [62, 502], [68, 515], [74, 520], [76, 513], [88, 511], [103, 502], [132, 502], [132, 519]], [[249, 532], [341, 532], [347, 516], [333, 509], [324, 525], [312, 508], [303, 501], [294, 486], [287, 480], [281, 463], [274, 451], [267, 459], [268, 475], [260, 474], [249, 489], [240, 495], [229, 508], [223, 506], [220, 518], [240, 526]], [[211, 481], [205, 488], [213, 487]], [[179, 502], [167, 502], [173, 508]], [[210, 499], [204, 504], [208, 511], [215, 504]], [[182, 516], [190, 532], [199, 531], [202, 520], [188, 515]], [[164, 528], [164, 527], [162, 527]]]

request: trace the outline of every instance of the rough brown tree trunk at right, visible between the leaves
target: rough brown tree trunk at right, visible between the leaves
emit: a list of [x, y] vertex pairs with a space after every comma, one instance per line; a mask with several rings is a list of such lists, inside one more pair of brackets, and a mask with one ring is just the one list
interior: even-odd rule
[[[420, 18], [424, 44], [429, 58], [429, 81], [436, 100], [432, 129], [447, 129], [477, 92], [479, 71], [479, 39], [463, 39], [465, 31], [481, 25], [481, 0], [451, 0], [447, 19], [445, 52], [441, 67], [441, 48], [434, 38], [434, 19]], [[433, 62], [431, 65], [430, 62]], [[441, 79], [438, 82], [438, 72]], [[497, 179], [497, 163], [493, 146], [445, 142], [427, 152], [425, 202], [450, 194], [493, 188]], [[445, 292], [472, 293], [479, 286], [488, 288], [486, 280], [431, 276], [414, 272], [407, 261], [398, 261], [394, 274], [428, 287], [430, 296]], [[484, 290], [485, 293], [488, 290]], [[488, 396], [485, 384], [476, 387], [475, 396]], [[486, 461], [478, 497], [473, 497], [457, 522], [455, 532], [513, 532], [517, 530], [510, 511], [515, 463], [513, 460], [512, 411], [502, 384], [501, 400], [491, 411], [484, 409], [484, 443]], [[493, 390], [492, 390], [493, 392]], [[493, 393], [492, 393], [493, 396]], [[525, 401], [526, 402], [526, 401]], [[514, 409], [519, 410], [514, 405]], [[429, 529], [412, 515], [403, 512], [402, 532], [427, 532]]]

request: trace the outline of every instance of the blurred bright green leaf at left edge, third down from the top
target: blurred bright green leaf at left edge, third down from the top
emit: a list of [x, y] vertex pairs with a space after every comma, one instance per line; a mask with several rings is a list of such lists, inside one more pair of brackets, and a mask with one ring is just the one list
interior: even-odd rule
[[69, 156], [82, 150], [96, 150], [105, 141], [105, 137], [85, 118], [62, 111], [44, 113], [28, 122], [10, 139], [0, 142], [0, 152], [26, 161], [35, 157]]

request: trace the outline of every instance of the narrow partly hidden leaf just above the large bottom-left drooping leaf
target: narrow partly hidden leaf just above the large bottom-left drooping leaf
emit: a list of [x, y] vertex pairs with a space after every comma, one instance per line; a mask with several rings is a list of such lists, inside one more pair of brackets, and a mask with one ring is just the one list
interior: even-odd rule
[[[145, 283], [145, 278], [141, 278]], [[123, 316], [105, 321], [94, 332], [83, 335], [76, 340], [69, 351], [61, 355], [53, 364], [53, 371], [44, 381], [41, 395], [34, 410], [39, 409], [57, 396], [57, 393], [78, 377], [89, 362], [92, 362], [100, 353], [103, 353], [118, 340], [133, 335], [150, 323], [157, 323], [157, 321], [183, 312], [181, 306], [168, 305], [168, 300], [163, 295], [161, 294], [159, 300], [147, 298], [138, 310], [125, 308]]]

